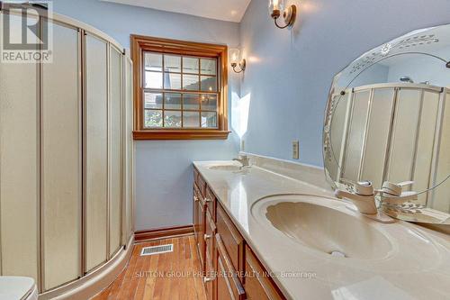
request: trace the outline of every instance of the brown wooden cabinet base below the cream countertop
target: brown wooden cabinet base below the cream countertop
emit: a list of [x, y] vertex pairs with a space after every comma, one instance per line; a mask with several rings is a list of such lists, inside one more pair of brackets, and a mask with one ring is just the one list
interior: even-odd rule
[[193, 228], [208, 300], [285, 299], [196, 169], [193, 179]]

